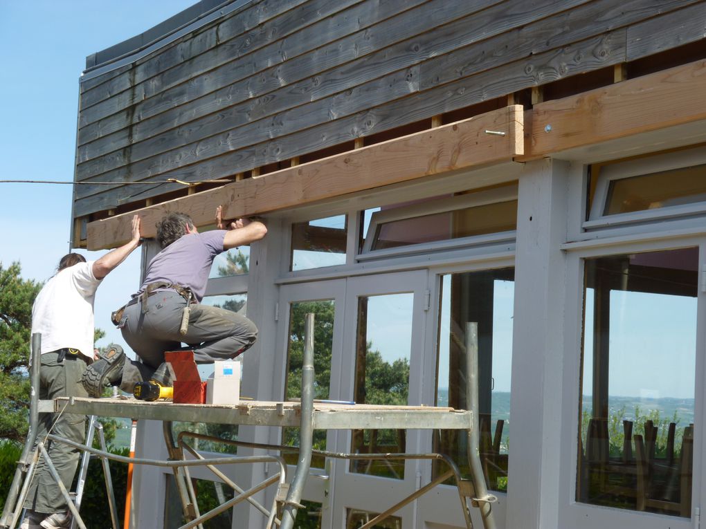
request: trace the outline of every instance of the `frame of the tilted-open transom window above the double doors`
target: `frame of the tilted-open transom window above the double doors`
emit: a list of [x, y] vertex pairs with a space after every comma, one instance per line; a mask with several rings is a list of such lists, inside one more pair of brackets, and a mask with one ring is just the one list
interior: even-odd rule
[[358, 261], [382, 259], [383, 257], [393, 257], [397, 255], [412, 255], [416, 253], [426, 253], [431, 250], [448, 250], [468, 245], [486, 245], [491, 243], [503, 243], [515, 240], [515, 230], [498, 231], [486, 235], [462, 237], [449, 239], [447, 241], [433, 241], [431, 243], [419, 243], [400, 246], [399, 248], [385, 248], [384, 250], [373, 250], [373, 242], [376, 238], [378, 226], [388, 222], [415, 219], [426, 215], [453, 212], [458, 209], [469, 207], [485, 206], [500, 202], [510, 202], [517, 200], [517, 186], [506, 186], [502, 188], [479, 191], [478, 193], [468, 193], [455, 197], [443, 197], [432, 202], [412, 204], [405, 207], [385, 209], [372, 214], [368, 233], [363, 243], [361, 254], [357, 255]]

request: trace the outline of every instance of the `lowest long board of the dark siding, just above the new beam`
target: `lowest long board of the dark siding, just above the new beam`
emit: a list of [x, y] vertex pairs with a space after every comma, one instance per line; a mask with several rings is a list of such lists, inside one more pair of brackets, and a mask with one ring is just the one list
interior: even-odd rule
[[[498, 72], [487, 71], [459, 80], [457, 83], [410, 95], [380, 107], [366, 109], [353, 116], [330, 121], [323, 126], [299, 130], [292, 135], [275, 138], [236, 152], [227, 152], [196, 163], [193, 161], [197, 159], [199, 153], [193, 152], [189, 155], [192, 163], [185, 163], [167, 173], [161, 173], [159, 167], [145, 164], [144, 169], [141, 169], [144, 174], [139, 174], [140, 180], [163, 181], [164, 178], [178, 178], [184, 181], [198, 181], [229, 177], [235, 172], [251, 169], [252, 166], [266, 165], [278, 159], [288, 159], [329, 145], [351, 141], [361, 135], [370, 135], [405, 125], [410, 121], [431, 118], [431, 116], [493, 99], [527, 86], [573, 75], [578, 71], [584, 71], [587, 63], [590, 63], [593, 68], [619, 63], [623, 61], [624, 49], [625, 32], [619, 30], [614, 34], [533, 56], [529, 61], [511, 63]], [[498, 73], [497, 79], [501, 79], [501, 82], [498, 82], [495, 73]], [[201, 152], [202, 156], [206, 154], [208, 153]], [[185, 161], [189, 162], [189, 159]], [[135, 166], [140, 167], [140, 163]], [[121, 176], [119, 171], [121, 169], [98, 176], [97, 181], [101, 181], [102, 178], [113, 181], [114, 178]], [[133, 193], [140, 193], [138, 196], [145, 197], [150, 193], [159, 195], [181, 188], [178, 184], [162, 184], [145, 190], [145, 186], [127, 184], [119, 190], [110, 192], [105, 189], [106, 187], [108, 186], [80, 186], [77, 193], [80, 193], [82, 198], [76, 202], [76, 214], [86, 214], [111, 207], [116, 200], [129, 197]]]

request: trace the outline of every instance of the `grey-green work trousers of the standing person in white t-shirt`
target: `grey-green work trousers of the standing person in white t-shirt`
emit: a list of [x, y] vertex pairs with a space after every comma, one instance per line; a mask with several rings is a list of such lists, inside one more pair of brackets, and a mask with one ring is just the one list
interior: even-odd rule
[[[40, 399], [54, 399], [58, 396], [88, 396], [83, 389], [81, 377], [86, 370], [83, 358], [66, 358], [58, 361], [59, 353], [44, 353], [40, 365]], [[71, 441], [85, 441], [85, 415], [77, 413], [41, 413], [37, 429], [37, 442], [43, 441], [47, 433], [52, 433]], [[47, 454], [64, 482], [66, 490], [71, 490], [73, 476], [78, 467], [80, 451], [68, 444], [49, 441], [44, 445]], [[25, 501], [25, 509], [38, 513], [63, 513], [68, 510], [64, 496], [49, 472], [49, 467], [40, 458], [35, 475], [30, 484], [29, 494]]]

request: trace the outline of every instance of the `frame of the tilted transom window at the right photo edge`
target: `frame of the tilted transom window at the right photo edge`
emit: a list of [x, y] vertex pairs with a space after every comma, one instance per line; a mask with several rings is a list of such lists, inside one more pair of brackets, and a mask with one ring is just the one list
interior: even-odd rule
[[594, 200], [588, 216], [589, 219], [583, 222], [582, 228], [584, 230], [592, 230], [616, 225], [635, 224], [644, 221], [657, 221], [660, 219], [688, 217], [694, 214], [705, 214], [706, 201], [686, 205], [666, 206], [659, 209], [645, 209], [639, 212], [617, 213], [612, 215], [603, 213], [606, 207], [610, 185], [614, 181], [702, 164], [706, 164], [706, 149], [704, 147], [697, 147], [695, 149], [629, 160], [627, 162], [620, 162], [604, 167], [601, 174], [598, 176]]

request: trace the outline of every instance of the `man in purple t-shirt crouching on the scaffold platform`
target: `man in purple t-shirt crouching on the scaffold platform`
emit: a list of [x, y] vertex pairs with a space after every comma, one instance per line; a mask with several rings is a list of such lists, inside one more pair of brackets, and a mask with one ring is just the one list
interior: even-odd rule
[[[220, 207], [216, 222], [223, 227]], [[246, 317], [201, 304], [215, 257], [267, 233], [260, 221], [247, 219], [228, 228], [198, 233], [184, 213], [167, 214], [157, 223], [162, 251], [150, 261], [143, 285], [116, 322], [142, 363], [126, 360], [122, 351], [93, 363], [83, 378], [90, 395], [118, 385], [131, 392], [137, 382], [149, 379], [170, 385], [164, 351], [177, 351], [182, 342], [193, 349], [196, 363], [234, 358], [255, 342], [258, 329]]]

